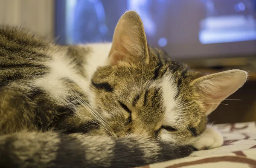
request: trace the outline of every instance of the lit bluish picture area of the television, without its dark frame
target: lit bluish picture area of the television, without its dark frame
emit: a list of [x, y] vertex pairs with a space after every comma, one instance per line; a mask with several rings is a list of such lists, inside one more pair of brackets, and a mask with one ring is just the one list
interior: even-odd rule
[[111, 41], [116, 22], [127, 9], [140, 14], [148, 39], [159, 47], [168, 47], [173, 43], [211, 44], [256, 40], [256, 0], [66, 2], [67, 39], [70, 43]]

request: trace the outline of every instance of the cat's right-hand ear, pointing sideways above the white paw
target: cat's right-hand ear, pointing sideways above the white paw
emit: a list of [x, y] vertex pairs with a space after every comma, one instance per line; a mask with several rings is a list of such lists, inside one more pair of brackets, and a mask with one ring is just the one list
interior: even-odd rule
[[[237, 91], [247, 80], [247, 72], [229, 70], [200, 77], [192, 82], [196, 93], [202, 97], [204, 112], [208, 115], [228, 96]], [[204, 100], [203, 100], [204, 99]]]

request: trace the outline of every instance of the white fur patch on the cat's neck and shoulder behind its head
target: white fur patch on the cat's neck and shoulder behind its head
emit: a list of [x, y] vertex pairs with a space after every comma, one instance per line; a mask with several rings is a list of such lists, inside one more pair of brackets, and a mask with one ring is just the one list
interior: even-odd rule
[[70, 94], [70, 91], [72, 91], [71, 88], [66, 88], [62, 83], [61, 79], [67, 78], [76, 83], [85, 94], [89, 95], [90, 97], [88, 97], [88, 99], [90, 103], [93, 104], [94, 97], [93, 93], [90, 92], [90, 80], [99, 66], [107, 65], [111, 43], [95, 43], [80, 46], [89, 47], [91, 51], [89, 55], [84, 55], [84, 59], [86, 59], [87, 62], [87, 64], [84, 65], [84, 74], [88, 76], [87, 79], [77, 72], [73, 60], [65, 57], [67, 53], [59, 51], [53, 54], [51, 53], [52, 60], [46, 63], [50, 68], [50, 73], [35, 80], [34, 85], [43, 88], [56, 100], [64, 103], [63, 101]]

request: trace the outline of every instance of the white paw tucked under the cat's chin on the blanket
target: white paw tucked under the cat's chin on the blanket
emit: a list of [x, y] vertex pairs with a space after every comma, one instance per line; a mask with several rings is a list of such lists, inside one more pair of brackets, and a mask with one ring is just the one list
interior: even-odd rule
[[197, 150], [205, 150], [220, 147], [223, 144], [223, 137], [219, 131], [207, 126], [205, 131], [189, 143]]

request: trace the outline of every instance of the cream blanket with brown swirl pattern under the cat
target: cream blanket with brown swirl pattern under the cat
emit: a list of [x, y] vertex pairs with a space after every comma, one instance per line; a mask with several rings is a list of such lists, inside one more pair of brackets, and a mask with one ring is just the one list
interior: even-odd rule
[[195, 151], [189, 157], [141, 168], [256, 168], [256, 122], [214, 127], [224, 136], [220, 148]]

